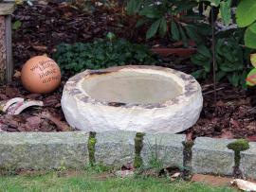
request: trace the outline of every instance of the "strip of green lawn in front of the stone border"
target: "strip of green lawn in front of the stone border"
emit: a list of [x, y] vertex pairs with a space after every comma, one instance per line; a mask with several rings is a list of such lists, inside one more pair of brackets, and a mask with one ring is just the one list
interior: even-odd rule
[[[105, 175], [104, 175], [105, 176]], [[102, 177], [101, 174], [88, 172], [72, 172], [60, 174], [51, 172], [46, 174], [1, 176], [0, 191], [155, 191], [155, 192], [231, 192], [230, 188], [218, 188], [202, 183], [170, 182], [168, 179], [136, 176], [134, 178]]]

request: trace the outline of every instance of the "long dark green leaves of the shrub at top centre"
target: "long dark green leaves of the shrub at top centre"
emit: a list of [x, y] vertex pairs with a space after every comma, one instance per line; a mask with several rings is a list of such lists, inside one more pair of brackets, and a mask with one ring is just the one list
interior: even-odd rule
[[[189, 40], [201, 44], [204, 41], [203, 34], [199, 25], [194, 22], [200, 16], [192, 11], [197, 5], [195, 0], [188, 0], [186, 3], [179, 0], [129, 0], [127, 12], [140, 17], [137, 27], [150, 25], [146, 33], [147, 39], [158, 34], [160, 37], [169, 36], [174, 41], [182, 41], [185, 45]], [[203, 27], [210, 26], [203, 24]]]

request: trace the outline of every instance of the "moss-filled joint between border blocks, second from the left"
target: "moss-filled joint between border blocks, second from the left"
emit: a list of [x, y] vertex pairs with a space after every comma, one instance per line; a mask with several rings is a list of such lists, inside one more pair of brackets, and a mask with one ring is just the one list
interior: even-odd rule
[[135, 137], [135, 161], [134, 166], [140, 167], [143, 165], [142, 158], [140, 156], [141, 149], [143, 148], [143, 137], [145, 133], [137, 132]]

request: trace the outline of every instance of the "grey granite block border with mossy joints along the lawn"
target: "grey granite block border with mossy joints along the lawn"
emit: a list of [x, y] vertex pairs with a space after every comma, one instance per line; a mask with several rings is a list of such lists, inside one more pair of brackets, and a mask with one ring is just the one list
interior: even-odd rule
[[[156, 157], [163, 166], [189, 167], [192, 173], [232, 175], [234, 140], [198, 137], [186, 148], [185, 134], [151, 134], [134, 131], [88, 133], [1, 132], [0, 170], [82, 168], [102, 166], [150, 166]], [[256, 179], [256, 143], [241, 152], [240, 169]], [[188, 145], [190, 146], [190, 145]], [[186, 153], [192, 153], [188, 158]], [[189, 155], [190, 156], [190, 155]]]

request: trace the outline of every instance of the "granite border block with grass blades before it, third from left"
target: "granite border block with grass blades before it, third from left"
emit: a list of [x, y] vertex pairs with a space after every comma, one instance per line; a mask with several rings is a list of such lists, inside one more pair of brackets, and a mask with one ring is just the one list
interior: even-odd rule
[[152, 166], [151, 161], [156, 157], [163, 166], [183, 166], [183, 145], [185, 134], [150, 134], [143, 139], [141, 158], [143, 166]]

